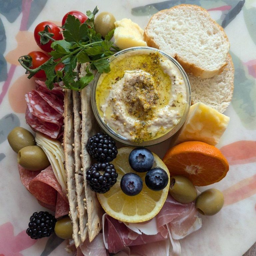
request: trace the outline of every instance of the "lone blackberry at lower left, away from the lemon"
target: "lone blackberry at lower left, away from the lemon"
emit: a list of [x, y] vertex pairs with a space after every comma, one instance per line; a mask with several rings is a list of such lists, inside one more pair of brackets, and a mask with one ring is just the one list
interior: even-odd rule
[[26, 232], [33, 239], [50, 236], [54, 231], [56, 221], [49, 212], [34, 212], [30, 217]]

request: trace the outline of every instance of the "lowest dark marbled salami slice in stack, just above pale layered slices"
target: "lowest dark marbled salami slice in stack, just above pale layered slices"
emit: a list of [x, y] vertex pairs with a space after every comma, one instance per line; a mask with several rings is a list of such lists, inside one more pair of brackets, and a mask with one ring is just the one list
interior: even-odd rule
[[[26, 123], [34, 130], [34, 131], [38, 131], [38, 132], [41, 132], [53, 139], [56, 139], [56, 138], [59, 138], [62, 134], [63, 134], [63, 131], [61, 130], [61, 127], [59, 127], [59, 129], [56, 131], [56, 130], [52, 130], [52, 129], [49, 129], [49, 123], [47, 122], [44, 122], [42, 120], [38, 120], [37, 117], [35, 117], [32, 113], [30, 113], [29, 109], [27, 108], [26, 110], [26, 115], [25, 115], [25, 118], [26, 118]], [[48, 125], [46, 125], [46, 123]]]

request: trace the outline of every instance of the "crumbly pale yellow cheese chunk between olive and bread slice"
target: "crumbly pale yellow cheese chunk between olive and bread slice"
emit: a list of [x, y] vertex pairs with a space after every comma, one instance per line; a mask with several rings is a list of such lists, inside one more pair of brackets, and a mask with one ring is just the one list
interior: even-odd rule
[[120, 49], [135, 46], [147, 46], [143, 40], [143, 30], [130, 19], [122, 19], [115, 22], [114, 43]]

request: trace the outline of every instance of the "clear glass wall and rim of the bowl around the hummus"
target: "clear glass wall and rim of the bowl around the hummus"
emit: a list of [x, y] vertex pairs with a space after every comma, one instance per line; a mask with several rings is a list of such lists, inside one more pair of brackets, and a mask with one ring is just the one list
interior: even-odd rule
[[[180, 118], [180, 121], [177, 125], [175, 125], [169, 132], [161, 135], [160, 137], [154, 138], [152, 140], [145, 140], [142, 142], [138, 142], [138, 141], [134, 141], [134, 140], [130, 140], [125, 138], [124, 136], [122, 136], [121, 134], [117, 133], [116, 131], [114, 131], [107, 123], [104, 122], [104, 120], [101, 118], [100, 113], [98, 111], [97, 108], [97, 104], [96, 104], [96, 89], [97, 89], [97, 84], [98, 84], [98, 80], [100, 78], [100, 76], [102, 74], [97, 73], [94, 81], [93, 81], [93, 85], [92, 85], [92, 94], [91, 94], [91, 102], [92, 102], [92, 109], [93, 109], [93, 113], [94, 116], [99, 124], [99, 126], [104, 130], [104, 132], [106, 132], [108, 135], [110, 135], [111, 137], [113, 137], [115, 140], [128, 145], [128, 146], [152, 146], [158, 143], [161, 143], [171, 137], [173, 137], [177, 131], [182, 127], [182, 125], [184, 124], [188, 112], [189, 112], [189, 108], [190, 108], [190, 104], [191, 104], [191, 89], [190, 89], [190, 84], [189, 84], [189, 80], [188, 77], [184, 71], [184, 69], [181, 67], [181, 65], [171, 56], [169, 56], [168, 54], [166, 54], [165, 52], [155, 49], [155, 48], [151, 48], [151, 47], [131, 47], [131, 48], [127, 48], [124, 49], [120, 52], [117, 52], [116, 54], [114, 54], [113, 56], [110, 57], [109, 61], [113, 61], [114, 59], [118, 58], [119, 56], [126, 54], [127, 52], [131, 52], [131, 51], [139, 51], [140, 53], [145, 51], [145, 53], [155, 53], [155, 52], [159, 52], [161, 55], [163, 55], [164, 57], [166, 57], [168, 60], [170, 60], [178, 69], [180, 75], [183, 78], [183, 81], [185, 83], [186, 86], [186, 104], [185, 104], [185, 109], [184, 109], [184, 113], [182, 115], [182, 117]], [[111, 71], [110, 71], [111, 72]]]

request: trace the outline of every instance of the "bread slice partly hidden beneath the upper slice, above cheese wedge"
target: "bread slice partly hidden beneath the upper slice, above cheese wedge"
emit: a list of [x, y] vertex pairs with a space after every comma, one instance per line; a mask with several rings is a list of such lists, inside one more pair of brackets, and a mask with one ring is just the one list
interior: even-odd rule
[[201, 79], [188, 74], [192, 104], [201, 101], [220, 113], [227, 109], [234, 89], [234, 65], [230, 54], [227, 55], [226, 62], [223, 71], [211, 78]]

